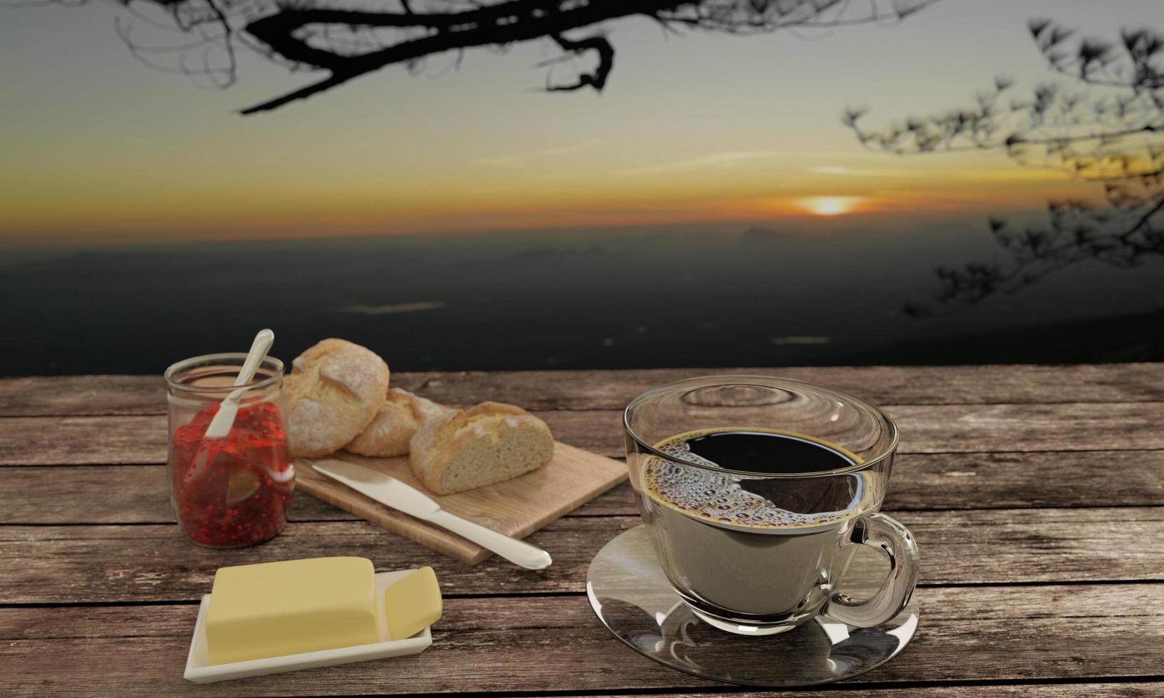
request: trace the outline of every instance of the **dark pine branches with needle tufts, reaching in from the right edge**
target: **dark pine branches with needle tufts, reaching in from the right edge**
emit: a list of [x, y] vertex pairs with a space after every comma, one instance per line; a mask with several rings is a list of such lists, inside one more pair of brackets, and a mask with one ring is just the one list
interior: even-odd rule
[[1015, 229], [991, 219], [1009, 259], [939, 268], [935, 302], [907, 304], [910, 315], [1014, 293], [1086, 259], [1130, 268], [1164, 257], [1164, 37], [1124, 29], [1109, 42], [1050, 20], [1031, 20], [1029, 29], [1048, 66], [1071, 83], [1045, 83], [1006, 100], [1014, 80], [999, 77], [970, 107], [881, 129], [865, 128], [866, 109], [842, 117], [867, 148], [902, 156], [995, 149], [1020, 165], [1060, 169], [1103, 187], [1101, 206], [1050, 201], [1042, 225]]

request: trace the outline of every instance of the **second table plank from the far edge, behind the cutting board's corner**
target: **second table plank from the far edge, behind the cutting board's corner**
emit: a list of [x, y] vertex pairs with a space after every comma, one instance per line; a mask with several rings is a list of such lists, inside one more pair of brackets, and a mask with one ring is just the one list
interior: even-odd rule
[[[902, 454], [1164, 449], [1164, 403], [899, 405]], [[535, 412], [554, 436], [622, 457], [622, 414]], [[164, 416], [0, 419], [0, 465], [162, 463]]]

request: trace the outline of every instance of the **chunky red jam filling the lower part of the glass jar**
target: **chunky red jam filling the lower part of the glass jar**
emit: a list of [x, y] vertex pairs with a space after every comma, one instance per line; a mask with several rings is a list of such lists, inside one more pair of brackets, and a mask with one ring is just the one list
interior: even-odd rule
[[242, 407], [227, 436], [204, 442], [217, 411], [199, 412], [173, 432], [170, 491], [178, 527], [213, 548], [261, 543], [283, 529], [294, 490], [283, 418], [270, 403]]

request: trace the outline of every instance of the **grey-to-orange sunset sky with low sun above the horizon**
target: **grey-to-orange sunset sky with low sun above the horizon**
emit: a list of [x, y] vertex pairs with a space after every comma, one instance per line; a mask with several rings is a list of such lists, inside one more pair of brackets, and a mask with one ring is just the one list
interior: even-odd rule
[[556, 51], [534, 42], [247, 117], [313, 77], [250, 57], [218, 91], [135, 62], [112, 2], [0, 9], [0, 247], [1035, 208], [1094, 187], [998, 152], [866, 151], [839, 114], [968, 104], [998, 73], [1029, 87], [1049, 77], [1029, 17], [1114, 36], [1156, 9], [944, 0], [900, 26], [754, 37], [624, 20], [602, 94], [538, 91]]

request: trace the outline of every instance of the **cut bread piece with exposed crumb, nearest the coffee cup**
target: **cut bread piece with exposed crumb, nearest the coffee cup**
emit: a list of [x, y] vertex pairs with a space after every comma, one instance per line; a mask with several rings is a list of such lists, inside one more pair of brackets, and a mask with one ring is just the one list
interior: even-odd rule
[[482, 403], [423, 425], [409, 461], [425, 487], [452, 494], [535, 470], [553, 456], [546, 422], [514, 405]]

